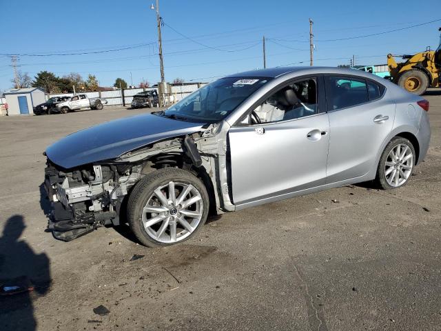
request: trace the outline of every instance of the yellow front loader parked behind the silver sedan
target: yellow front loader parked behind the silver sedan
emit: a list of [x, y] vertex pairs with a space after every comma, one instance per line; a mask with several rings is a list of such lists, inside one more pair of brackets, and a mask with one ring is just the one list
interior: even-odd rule
[[437, 50], [428, 48], [414, 55], [402, 55], [402, 59], [407, 61], [397, 63], [392, 54], [387, 54], [391, 80], [398, 86], [418, 95], [427, 88], [441, 87], [441, 38]]

